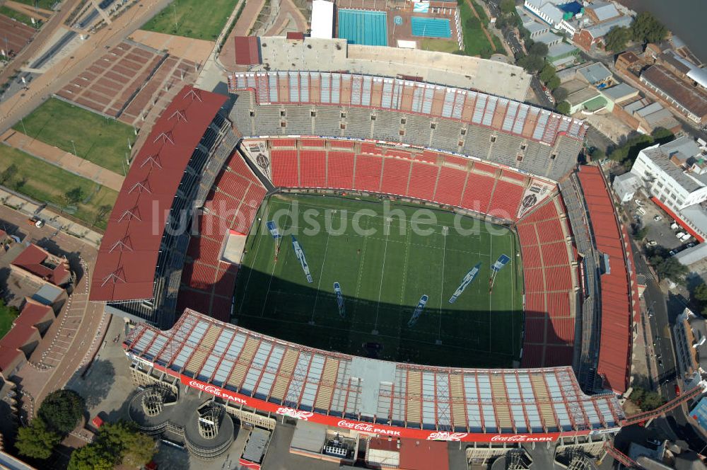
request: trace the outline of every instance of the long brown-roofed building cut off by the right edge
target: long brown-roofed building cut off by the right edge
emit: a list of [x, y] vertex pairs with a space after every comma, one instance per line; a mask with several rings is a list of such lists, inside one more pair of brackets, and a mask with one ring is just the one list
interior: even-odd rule
[[707, 92], [679, 78], [662, 65], [652, 65], [641, 73], [641, 82], [670, 103], [691, 121], [707, 123]]

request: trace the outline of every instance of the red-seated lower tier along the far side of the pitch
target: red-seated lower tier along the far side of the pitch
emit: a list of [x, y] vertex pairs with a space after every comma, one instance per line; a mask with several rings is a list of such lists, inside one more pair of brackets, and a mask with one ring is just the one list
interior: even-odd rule
[[[529, 181], [522, 173], [442, 152], [335, 139], [278, 141], [267, 142], [272, 183], [282, 188], [354, 189], [415, 197], [514, 221]], [[312, 142], [319, 150], [310, 150]], [[341, 144], [353, 151], [339, 151]]]

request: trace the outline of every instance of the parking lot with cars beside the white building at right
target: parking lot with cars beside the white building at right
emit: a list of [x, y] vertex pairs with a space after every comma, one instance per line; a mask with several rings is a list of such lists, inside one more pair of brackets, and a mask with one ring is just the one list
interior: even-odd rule
[[[635, 200], [641, 202], [639, 207]], [[643, 241], [643, 246], [646, 246], [651, 241], [655, 241], [655, 246], [662, 246], [668, 250], [681, 251], [687, 248], [689, 243], [695, 243], [694, 238], [690, 238], [686, 241], [680, 241], [676, 234], [679, 232], [685, 233], [682, 227], [673, 229], [671, 224], [674, 222], [672, 217], [665, 213], [660, 207], [655, 205], [653, 201], [649, 200], [642, 195], [636, 194], [635, 200], [631, 202], [626, 202], [624, 204], [624, 209], [629, 212], [631, 216], [631, 224], [638, 224], [640, 227], [646, 227], [648, 229], [648, 234], [645, 236], [645, 241]], [[645, 214], [641, 214], [645, 212]], [[657, 218], [659, 218], [656, 220]]]

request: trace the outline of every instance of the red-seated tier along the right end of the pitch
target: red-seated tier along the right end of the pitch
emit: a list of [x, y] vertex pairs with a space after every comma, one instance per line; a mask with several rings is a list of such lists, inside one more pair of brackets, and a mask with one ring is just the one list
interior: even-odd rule
[[518, 222], [525, 280], [523, 367], [573, 363], [578, 285], [557, 195]]

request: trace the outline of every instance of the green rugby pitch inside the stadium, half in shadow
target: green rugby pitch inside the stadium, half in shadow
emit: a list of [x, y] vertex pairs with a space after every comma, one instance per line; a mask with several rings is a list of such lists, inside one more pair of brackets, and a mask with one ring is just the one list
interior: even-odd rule
[[[399, 362], [511, 367], [519, 360], [522, 267], [513, 231], [402, 202], [330, 195], [274, 195], [258, 217], [238, 273], [238, 325], [314, 348]], [[280, 239], [268, 231], [270, 220], [284, 234]], [[489, 292], [491, 265], [502, 254], [510, 262]], [[477, 263], [479, 275], [450, 304]], [[341, 285], [344, 312], [334, 282]], [[423, 295], [428, 302], [409, 326]]]

